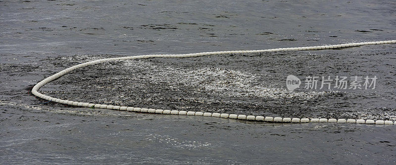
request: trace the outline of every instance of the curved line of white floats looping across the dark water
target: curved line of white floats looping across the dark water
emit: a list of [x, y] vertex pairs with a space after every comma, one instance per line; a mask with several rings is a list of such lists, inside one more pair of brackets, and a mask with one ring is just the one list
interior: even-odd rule
[[235, 118], [241, 120], [256, 120], [256, 121], [268, 121], [268, 122], [348, 122], [348, 123], [366, 123], [366, 124], [396, 124], [393, 121], [384, 121], [384, 120], [363, 120], [363, 119], [335, 119], [335, 118], [289, 118], [289, 117], [270, 117], [270, 116], [253, 116], [253, 115], [237, 115], [237, 114], [227, 114], [227, 113], [209, 113], [209, 112], [195, 112], [195, 111], [179, 111], [179, 110], [155, 110], [155, 109], [145, 109], [145, 108], [134, 108], [134, 107], [120, 107], [113, 105], [101, 105], [101, 104], [93, 104], [93, 103], [84, 103], [84, 102], [73, 102], [69, 100], [62, 100], [53, 98], [44, 94], [41, 94], [37, 90], [39, 90], [42, 86], [47, 83], [59, 78], [60, 76], [65, 75], [66, 73], [75, 70], [80, 67], [85, 67], [89, 65], [94, 65], [98, 63], [103, 63], [107, 61], [115, 61], [115, 60], [127, 60], [127, 59], [142, 59], [142, 58], [153, 58], [153, 57], [171, 57], [171, 58], [184, 58], [184, 57], [197, 57], [204, 55], [221, 55], [221, 54], [238, 54], [238, 53], [258, 53], [258, 52], [279, 52], [279, 51], [306, 51], [306, 50], [323, 50], [323, 49], [337, 49], [337, 48], [345, 48], [345, 47], [356, 47], [362, 45], [378, 45], [378, 44], [395, 44], [396, 40], [390, 41], [377, 41], [377, 42], [363, 42], [363, 43], [351, 43], [351, 44], [340, 44], [340, 45], [329, 45], [329, 46], [316, 46], [316, 47], [298, 47], [298, 48], [278, 48], [278, 49], [266, 49], [266, 50], [255, 50], [255, 51], [222, 51], [222, 52], [204, 52], [204, 53], [194, 53], [194, 54], [178, 54], [178, 55], [137, 55], [137, 56], [126, 56], [126, 57], [116, 57], [116, 58], [104, 58], [98, 59], [94, 61], [89, 61], [85, 63], [81, 63], [78, 65], [74, 65], [72, 67], [66, 68], [52, 76], [47, 77], [46, 79], [37, 83], [33, 89], [32, 93], [42, 99], [79, 106], [79, 107], [95, 107], [101, 109], [112, 109], [112, 110], [127, 110], [127, 111], [136, 111], [136, 112], [147, 112], [147, 113], [162, 113], [162, 114], [179, 114], [179, 115], [197, 115], [197, 116], [212, 116], [212, 117], [222, 117], [222, 118]]

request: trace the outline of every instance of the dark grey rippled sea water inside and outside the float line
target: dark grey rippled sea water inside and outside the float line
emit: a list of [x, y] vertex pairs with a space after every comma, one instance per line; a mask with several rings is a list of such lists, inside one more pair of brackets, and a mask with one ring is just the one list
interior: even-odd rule
[[[394, 40], [393, 1], [0, 1], [2, 164], [395, 163], [386, 125], [266, 123], [69, 107], [30, 94], [66, 67], [126, 55]], [[395, 120], [396, 45], [153, 58], [42, 88], [84, 102], [283, 117]], [[374, 76], [374, 90], [297, 90], [289, 74]]]

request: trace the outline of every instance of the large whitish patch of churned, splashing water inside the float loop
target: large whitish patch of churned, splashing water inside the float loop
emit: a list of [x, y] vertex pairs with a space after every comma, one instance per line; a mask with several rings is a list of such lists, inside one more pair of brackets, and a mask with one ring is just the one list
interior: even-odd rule
[[[301, 99], [307, 100], [318, 96], [332, 95], [339, 91], [289, 92], [285, 88], [267, 87], [257, 81], [259, 75], [246, 71], [221, 67], [172, 68], [156, 65], [145, 60], [129, 60], [123, 63], [126, 70], [134, 72], [144, 69], [150, 76], [131, 75], [148, 78], [152, 82], [167, 83], [179, 88], [194, 88], [196, 92], [205, 92], [220, 97], [257, 97], [264, 99]], [[268, 83], [268, 82], [267, 82]]]

